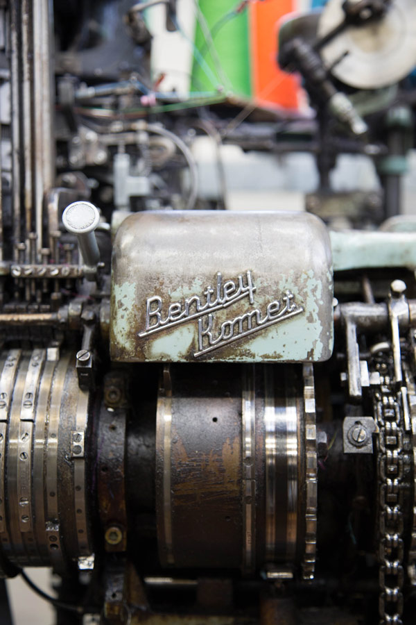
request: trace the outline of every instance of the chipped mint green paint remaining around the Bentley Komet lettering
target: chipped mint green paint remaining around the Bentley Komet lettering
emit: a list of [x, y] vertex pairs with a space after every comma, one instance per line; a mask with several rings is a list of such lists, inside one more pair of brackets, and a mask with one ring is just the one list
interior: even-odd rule
[[[270, 294], [270, 285], [263, 278], [255, 277], [258, 299], [254, 306], [262, 312], [267, 304], [273, 299], [281, 299], [286, 290], [295, 295], [295, 301], [303, 306], [304, 313], [284, 319], [274, 326], [259, 331], [257, 335], [242, 337], [234, 343], [234, 349], [229, 356], [225, 353], [212, 352], [210, 356], [201, 358], [200, 361], [220, 360], [232, 362], [259, 362], [263, 361], [305, 361], [319, 360], [325, 347], [332, 350], [333, 328], [330, 331], [322, 330], [319, 312], [331, 306], [332, 285], [331, 271], [329, 279], [329, 293], [323, 292], [322, 279], [315, 278], [313, 269], [302, 274], [289, 272], [281, 276], [276, 285], [275, 292]], [[189, 286], [182, 286], [170, 292], [170, 301], [183, 301], [194, 294], [202, 294], [207, 284], [200, 278], [195, 278]], [[269, 292], [268, 297], [262, 298], [262, 292]], [[252, 306], [248, 306], [248, 310]], [[233, 307], [228, 309], [229, 319], [234, 317]], [[135, 283], [123, 283], [113, 285], [112, 292], [112, 340], [114, 347], [128, 359], [137, 351], [138, 342], [141, 341], [132, 328], [137, 327], [137, 292]], [[235, 313], [238, 314], [238, 313]], [[149, 337], [142, 345], [144, 359], [148, 361], [189, 360], [189, 355], [198, 350], [198, 321], [193, 320], [189, 324], [171, 328], [168, 332], [162, 331], [159, 335]], [[325, 349], [326, 352], [326, 349]]]

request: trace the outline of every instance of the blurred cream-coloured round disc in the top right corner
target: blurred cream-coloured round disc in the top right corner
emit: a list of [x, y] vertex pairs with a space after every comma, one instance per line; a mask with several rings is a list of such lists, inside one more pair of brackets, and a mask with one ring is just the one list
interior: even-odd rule
[[[318, 38], [343, 22], [342, 4], [343, 0], [327, 3]], [[386, 87], [407, 76], [416, 65], [415, 28], [414, 0], [395, 0], [379, 22], [346, 28], [322, 49], [322, 58], [333, 76], [346, 85], [356, 89]]]

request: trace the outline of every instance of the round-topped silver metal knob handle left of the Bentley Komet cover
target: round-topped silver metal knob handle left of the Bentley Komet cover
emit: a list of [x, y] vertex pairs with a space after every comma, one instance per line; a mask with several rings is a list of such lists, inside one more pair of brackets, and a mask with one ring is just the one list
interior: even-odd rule
[[94, 230], [100, 221], [98, 208], [91, 202], [73, 202], [65, 208], [62, 222], [68, 232], [75, 234], [85, 265], [94, 267], [100, 260], [100, 252]]

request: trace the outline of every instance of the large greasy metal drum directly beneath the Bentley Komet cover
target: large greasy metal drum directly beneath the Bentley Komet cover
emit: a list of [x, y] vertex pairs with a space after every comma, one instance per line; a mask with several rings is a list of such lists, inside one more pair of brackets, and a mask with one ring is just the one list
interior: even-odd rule
[[305, 435], [296, 367], [166, 366], [156, 433], [162, 565], [250, 573], [299, 562], [311, 499]]

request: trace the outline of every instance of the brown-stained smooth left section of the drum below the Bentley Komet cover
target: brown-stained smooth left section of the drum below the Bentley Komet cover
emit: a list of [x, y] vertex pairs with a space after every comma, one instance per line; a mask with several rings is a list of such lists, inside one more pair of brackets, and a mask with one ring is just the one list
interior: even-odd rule
[[240, 567], [241, 381], [228, 368], [201, 373], [196, 385], [188, 367], [173, 369], [171, 407], [158, 402], [159, 556], [164, 565]]

